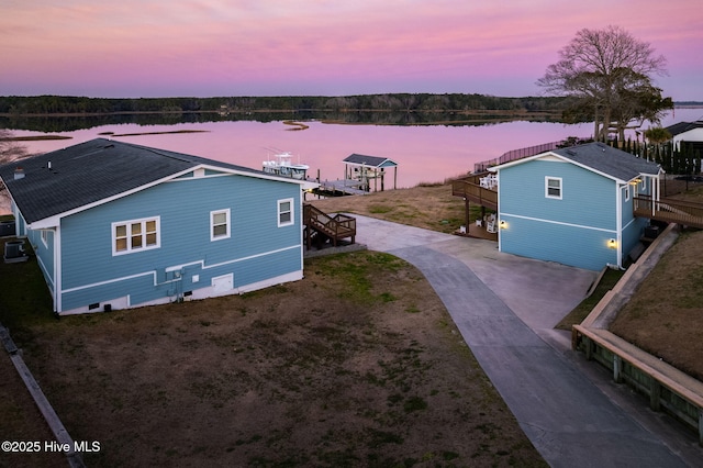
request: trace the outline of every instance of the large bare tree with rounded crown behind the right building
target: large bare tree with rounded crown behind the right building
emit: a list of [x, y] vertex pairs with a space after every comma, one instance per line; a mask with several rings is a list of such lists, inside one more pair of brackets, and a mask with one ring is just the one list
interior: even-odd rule
[[672, 107], [671, 99], [662, 98], [661, 89], [652, 85], [652, 75], [666, 75], [666, 58], [618, 26], [579, 31], [559, 57], [537, 85], [549, 93], [576, 98], [576, 113], [585, 111], [593, 118], [596, 140], [610, 130], [624, 135], [635, 119], [657, 121]]

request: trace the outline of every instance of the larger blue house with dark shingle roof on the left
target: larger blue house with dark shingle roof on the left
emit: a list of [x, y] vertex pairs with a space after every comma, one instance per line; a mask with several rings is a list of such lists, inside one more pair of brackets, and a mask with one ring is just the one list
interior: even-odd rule
[[4, 165], [0, 177], [58, 314], [303, 276], [301, 180], [103, 138]]

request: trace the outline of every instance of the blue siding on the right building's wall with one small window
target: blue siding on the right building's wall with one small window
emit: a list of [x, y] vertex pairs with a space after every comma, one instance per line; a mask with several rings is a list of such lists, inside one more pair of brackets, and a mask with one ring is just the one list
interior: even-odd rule
[[[561, 199], [545, 197], [545, 177]], [[615, 181], [573, 164], [533, 160], [500, 169], [501, 252], [599, 270], [617, 264]]]

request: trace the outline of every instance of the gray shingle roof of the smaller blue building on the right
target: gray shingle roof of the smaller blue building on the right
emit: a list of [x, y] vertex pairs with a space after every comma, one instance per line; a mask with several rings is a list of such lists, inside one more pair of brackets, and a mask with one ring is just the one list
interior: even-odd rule
[[551, 153], [623, 181], [629, 181], [645, 174], [657, 175], [660, 169], [656, 163], [603, 143], [588, 143], [555, 149]]

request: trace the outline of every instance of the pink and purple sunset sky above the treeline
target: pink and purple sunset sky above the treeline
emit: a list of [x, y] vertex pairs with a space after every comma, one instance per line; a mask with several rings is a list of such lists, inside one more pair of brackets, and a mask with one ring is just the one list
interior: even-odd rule
[[2, 0], [0, 96], [537, 96], [558, 51], [617, 25], [703, 101], [701, 0]]

